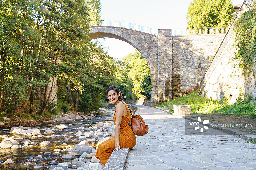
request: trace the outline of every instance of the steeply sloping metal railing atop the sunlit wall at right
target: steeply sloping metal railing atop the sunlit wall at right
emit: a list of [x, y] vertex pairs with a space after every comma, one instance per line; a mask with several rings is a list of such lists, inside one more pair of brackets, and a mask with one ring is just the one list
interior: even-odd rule
[[251, 7], [253, 7], [256, 3], [256, 0], [245, 0], [244, 3], [242, 4], [242, 6], [240, 7], [240, 9], [238, 10], [236, 17], [233, 19], [233, 22], [230, 24], [229, 29], [225, 35], [225, 37], [223, 38], [223, 41], [221, 42], [217, 52], [215, 53], [212, 62], [210, 63], [209, 67], [207, 68], [203, 79], [200, 82], [200, 91], [198, 92], [198, 95], [200, 95], [202, 93], [202, 87], [204, 85], [204, 82], [206, 80], [206, 78], [211, 74], [212, 69], [214, 68], [215, 63], [219, 60], [220, 55], [223, 51], [223, 49], [225, 48], [225, 46], [227, 45], [229, 39], [231, 38], [232, 34], [233, 34], [233, 25], [234, 22], [239, 19], [243, 13], [247, 10], [249, 10]]

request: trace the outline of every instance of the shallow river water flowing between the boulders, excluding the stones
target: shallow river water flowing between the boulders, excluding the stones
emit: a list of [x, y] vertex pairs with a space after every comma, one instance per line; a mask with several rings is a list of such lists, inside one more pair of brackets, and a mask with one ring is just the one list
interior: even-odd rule
[[[39, 125], [39, 127], [41, 127], [41, 133], [44, 132], [45, 129], [49, 128], [47, 127], [47, 125], [49, 123], [52, 124], [52, 126], [55, 126], [57, 124], [65, 124], [67, 126], [67, 131], [64, 131], [63, 129], [53, 129], [53, 131], [55, 132], [54, 134], [54, 139], [49, 138], [49, 137], [40, 137], [40, 138], [30, 138], [27, 137], [31, 142], [35, 142], [38, 143], [37, 146], [34, 147], [25, 147], [22, 149], [0, 149], [0, 170], [24, 170], [24, 169], [33, 169], [34, 166], [38, 165], [38, 166], [44, 166], [44, 167], [49, 167], [50, 166], [50, 162], [54, 159], [57, 159], [58, 162], [55, 163], [56, 165], [58, 163], [63, 163], [66, 161], [71, 162], [71, 160], [64, 160], [62, 159], [62, 155], [68, 154], [69, 152], [63, 152], [60, 151], [59, 155], [50, 155], [50, 156], [45, 156], [46, 158], [42, 158], [39, 160], [32, 160], [34, 157], [36, 157], [37, 155], [42, 155], [45, 152], [51, 152], [54, 153], [54, 149], [59, 148], [59, 149], [65, 149], [66, 146], [61, 146], [61, 144], [66, 143], [68, 145], [74, 146], [76, 144], [78, 144], [80, 141], [82, 140], [86, 140], [86, 138], [79, 138], [76, 136], [76, 132], [81, 131], [81, 132], [88, 132], [88, 131], [95, 131], [97, 129], [88, 129], [88, 130], [81, 130], [79, 129], [81, 126], [83, 126], [84, 128], [88, 128], [91, 127], [93, 124], [96, 125], [96, 123], [98, 122], [105, 122], [105, 118], [108, 116], [113, 116], [114, 114], [114, 109], [113, 108], [106, 108], [106, 109], [101, 109], [100, 113], [97, 115], [101, 115], [102, 119], [98, 119], [98, 118], [94, 118], [93, 120], [91, 119], [82, 119], [81, 120], [76, 120], [76, 121], [69, 121], [69, 122], [47, 122], [44, 124]], [[78, 123], [82, 123], [82, 124], [78, 124]], [[89, 125], [86, 125], [86, 124]], [[37, 126], [38, 127], [38, 126]], [[8, 133], [10, 131], [10, 129], [0, 129], [0, 138], [2, 138], [3, 135], [7, 135], [8, 137], [11, 137], [14, 134], [10, 134]], [[70, 134], [69, 132], [73, 132], [72, 134]], [[42, 133], [43, 135], [43, 133]], [[21, 136], [21, 135], [15, 135], [15, 136]], [[100, 137], [94, 137], [91, 136], [91, 138], [95, 138], [97, 139], [102, 139], [104, 137], [108, 137], [109, 135], [103, 135]], [[70, 140], [65, 141], [65, 138], [70, 138]], [[89, 139], [91, 139], [89, 138]], [[47, 140], [50, 142], [50, 144], [48, 146], [40, 146], [39, 143]], [[73, 140], [73, 141], [72, 141]], [[2, 141], [0, 139], [0, 141]], [[22, 140], [16, 140], [19, 142], [19, 145], [21, 144]], [[89, 145], [96, 148], [96, 144], [97, 142], [89, 142]], [[14, 157], [17, 157], [17, 159], [14, 159]], [[14, 165], [12, 166], [4, 166], [3, 163], [4, 161], [6, 161], [7, 159], [12, 159], [14, 161]], [[70, 164], [70, 166], [68, 166], [69, 168], [77, 168], [79, 166], [76, 165], [72, 165]]]

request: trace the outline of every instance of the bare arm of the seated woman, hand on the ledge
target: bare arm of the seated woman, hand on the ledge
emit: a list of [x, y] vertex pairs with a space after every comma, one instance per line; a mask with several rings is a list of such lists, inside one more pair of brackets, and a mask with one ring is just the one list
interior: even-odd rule
[[119, 135], [120, 135], [120, 124], [122, 122], [122, 117], [124, 113], [125, 106], [122, 102], [116, 105], [116, 125], [115, 125], [115, 151], [121, 150], [119, 145]]

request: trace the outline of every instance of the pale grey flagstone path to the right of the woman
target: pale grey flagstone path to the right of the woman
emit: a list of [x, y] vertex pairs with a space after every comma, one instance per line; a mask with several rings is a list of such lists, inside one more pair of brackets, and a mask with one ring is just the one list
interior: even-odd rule
[[226, 133], [185, 135], [183, 118], [153, 107], [141, 107], [139, 114], [149, 133], [137, 137], [126, 170], [256, 169], [256, 144]]

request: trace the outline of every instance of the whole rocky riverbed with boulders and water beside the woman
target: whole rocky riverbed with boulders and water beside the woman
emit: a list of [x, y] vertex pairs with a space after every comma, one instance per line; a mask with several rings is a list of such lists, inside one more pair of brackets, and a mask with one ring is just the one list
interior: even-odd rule
[[60, 114], [32, 129], [0, 129], [0, 170], [98, 168], [93, 156], [97, 145], [114, 135], [113, 114], [112, 108], [98, 114]]

